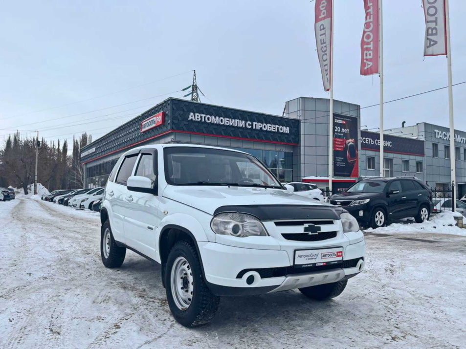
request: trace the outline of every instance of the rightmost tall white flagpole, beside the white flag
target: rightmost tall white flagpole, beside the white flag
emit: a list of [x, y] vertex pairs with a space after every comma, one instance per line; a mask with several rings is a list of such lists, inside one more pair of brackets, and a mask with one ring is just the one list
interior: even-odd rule
[[451, 46], [450, 46], [450, 11], [448, 0], [445, 0], [445, 20], [446, 20], [446, 59], [448, 65], [448, 110], [450, 114], [450, 170], [451, 170], [451, 191], [452, 210], [456, 211], [456, 152], [455, 152], [455, 126], [453, 120], [453, 85], [451, 78]]

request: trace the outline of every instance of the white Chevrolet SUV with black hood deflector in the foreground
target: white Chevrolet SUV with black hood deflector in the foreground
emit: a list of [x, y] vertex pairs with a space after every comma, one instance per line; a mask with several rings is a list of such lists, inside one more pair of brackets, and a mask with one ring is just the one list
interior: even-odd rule
[[340, 207], [290, 194], [255, 157], [186, 144], [144, 146], [113, 168], [101, 210], [101, 256], [126, 249], [162, 264], [175, 319], [193, 327], [220, 296], [299, 289], [338, 296], [364, 269], [366, 243]]

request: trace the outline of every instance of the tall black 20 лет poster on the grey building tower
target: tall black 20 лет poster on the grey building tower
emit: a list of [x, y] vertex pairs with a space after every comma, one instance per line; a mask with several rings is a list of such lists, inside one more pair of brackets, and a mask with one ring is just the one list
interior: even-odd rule
[[358, 177], [357, 118], [333, 114], [333, 175]]

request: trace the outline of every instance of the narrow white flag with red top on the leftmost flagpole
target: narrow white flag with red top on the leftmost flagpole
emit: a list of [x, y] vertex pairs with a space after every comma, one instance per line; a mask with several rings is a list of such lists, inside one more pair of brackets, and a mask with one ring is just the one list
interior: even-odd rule
[[330, 90], [331, 38], [332, 38], [332, 1], [315, 0], [315, 44], [319, 57], [324, 90]]

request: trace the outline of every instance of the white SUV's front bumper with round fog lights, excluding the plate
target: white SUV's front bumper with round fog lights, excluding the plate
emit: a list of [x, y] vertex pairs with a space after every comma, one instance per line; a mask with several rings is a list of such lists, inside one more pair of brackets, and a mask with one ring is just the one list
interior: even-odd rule
[[344, 247], [343, 263], [338, 267], [324, 270], [314, 267], [309, 271], [297, 270], [285, 250], [215, 242], [199, 242], [199, 248], [207, 285], [219, 296], [264, 294], [346, 280], [364, 270], [366, 254], [366, 243], [362, 240]]

